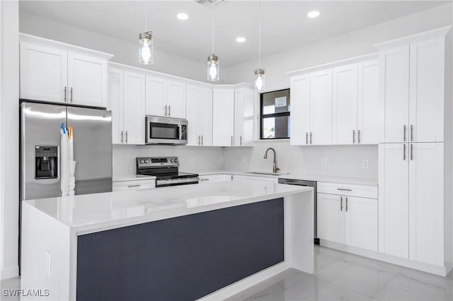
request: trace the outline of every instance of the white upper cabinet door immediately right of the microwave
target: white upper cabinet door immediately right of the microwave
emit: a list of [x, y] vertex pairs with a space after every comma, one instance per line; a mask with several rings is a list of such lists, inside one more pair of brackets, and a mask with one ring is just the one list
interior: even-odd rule
[[188, 122], [187, 130], [187, 145], [188, 146], [200, 146], [201, 138], [198, 124], [198, 100], [199, 100], [199, 88], [195, 85], [187, 85], [187, 108], [186, 108], [186, 119]]

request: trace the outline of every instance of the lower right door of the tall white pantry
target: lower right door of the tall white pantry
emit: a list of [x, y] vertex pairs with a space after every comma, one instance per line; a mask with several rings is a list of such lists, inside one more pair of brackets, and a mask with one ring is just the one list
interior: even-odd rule
[[409, 258], [444, 266], [444, 143], [409, 147]]

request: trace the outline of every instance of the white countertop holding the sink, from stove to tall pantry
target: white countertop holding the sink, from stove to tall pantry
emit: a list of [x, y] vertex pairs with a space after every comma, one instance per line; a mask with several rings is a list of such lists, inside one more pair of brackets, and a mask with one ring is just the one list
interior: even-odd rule
[[[195, 172], [195, 171], [188, 171]], [[343, 184], [357, 184], [357, 185], [369, 185], [377, 186], [377, 179], [368, 179], [360, 177], [332, 177], [332, 176], [323, 176], [323, 175], [304, 175], [298, 173], [283, 173], [280, 175], [261, 175], [253, 174], [245, 171], [238, 170], [202, 170], [196, 172], [198, 175], [247, 175], [251, 177], [273, 177], [273, 178], [283, 178], [283, 179], [304, 179], [306, 181], [316, 181], [316, 182], [332, 182], [332, 183], [343, 183]]]

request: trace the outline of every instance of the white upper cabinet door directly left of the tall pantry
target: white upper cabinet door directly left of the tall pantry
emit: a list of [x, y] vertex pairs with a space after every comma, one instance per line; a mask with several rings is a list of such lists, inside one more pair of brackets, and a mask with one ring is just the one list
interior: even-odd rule
[[379, 142], [379, 61], [358, 64], [357, 143]]

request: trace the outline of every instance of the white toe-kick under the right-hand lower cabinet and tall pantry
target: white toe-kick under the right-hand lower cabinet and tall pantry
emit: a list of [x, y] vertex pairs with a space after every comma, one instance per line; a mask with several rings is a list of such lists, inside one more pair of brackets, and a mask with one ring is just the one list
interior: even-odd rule
[[418, 271], [424, 271], [427, 273], [432, 273], [443, 277], [447, 276], [447, 268], [445, 266], [433, 266], [431, 264], [423, 264], [422, 262], [413, 261], [411, 259], [399, 258], [388, 254], [382, 254], [376, 251], [352, 247], [346, 244], [339, 244], [338, 242], [330, 242], [328, 240], [320, 240], [320, 245], [323, 247], [338, 249], [343, 252], [348, 252], [351, 254], [356, 254], [371, 259], [377, 259], [380, 261], [388, 262], [389, 264], [404, 266], [405, 268], [413, 268]]

